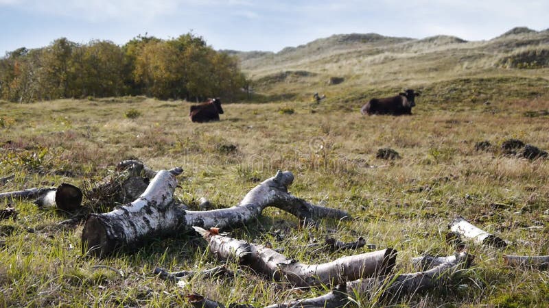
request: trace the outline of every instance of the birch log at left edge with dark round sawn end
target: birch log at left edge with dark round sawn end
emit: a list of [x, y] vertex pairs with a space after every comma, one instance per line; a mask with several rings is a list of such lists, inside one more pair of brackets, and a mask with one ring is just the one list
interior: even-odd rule
[[30, 188], [17, 192], [5, 192], [0, 194], [1, 200], [28, 200], [35, 198], [34, 203], [40, 207], [53, 207], [70, 211], [77, 209], [82, 204], [82, 191], [80, 188], [62, 183], [58, 188]]

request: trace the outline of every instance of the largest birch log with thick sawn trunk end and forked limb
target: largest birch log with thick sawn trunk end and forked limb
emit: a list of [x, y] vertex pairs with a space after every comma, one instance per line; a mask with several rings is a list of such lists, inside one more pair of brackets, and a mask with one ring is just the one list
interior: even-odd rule
[[261, 215], [273, 206], [290, 212], [307, 223], [349, 218], [347, 211], [312, 205], [288, 193], [294, 180], [292, 172], [277, 172], [250, 190], [242, 201], [227, 209], [189, 211], [174, 203], [176, 176], [181, 168], [161, 170], [147, 189], [132, 203], [104, 214], [90, 214], [82, 231], [82, 252], [102, 257], [119, 248], [135, 249], [148, 238], [191, 231], [193, 226], [209, 229], [234, 229]]

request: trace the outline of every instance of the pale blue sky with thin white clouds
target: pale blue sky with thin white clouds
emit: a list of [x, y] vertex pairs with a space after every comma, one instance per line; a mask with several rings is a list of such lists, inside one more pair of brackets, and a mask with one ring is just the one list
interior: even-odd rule
[[0, 56], [57, 38], [125, 44], [189, 32], [214, 49], [280, 51], [333, 34], [489, 40], [549, 28], [549, 0], [0, 0]]

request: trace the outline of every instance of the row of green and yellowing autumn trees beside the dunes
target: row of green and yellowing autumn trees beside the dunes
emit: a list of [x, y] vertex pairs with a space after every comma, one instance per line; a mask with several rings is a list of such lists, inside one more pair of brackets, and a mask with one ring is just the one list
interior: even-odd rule
[[146, 95], [158, 99], [235, 99], [246, 84], [235, 56], [188, 33], [137, 36], [124, 44], [59, 38], [0, 58], [0, 98], [13, 102]]

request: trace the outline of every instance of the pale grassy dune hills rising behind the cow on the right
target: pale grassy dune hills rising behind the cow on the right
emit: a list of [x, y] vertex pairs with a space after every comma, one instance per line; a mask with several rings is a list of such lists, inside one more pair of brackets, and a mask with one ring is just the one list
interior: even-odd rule
[[[343, 34], [287, 47], [278, 53], [235, 54], [241, 58], [242, 69], [255, 81], [257, 93], [268, 99], [308, 100], [314, 92], [322, 92], [341, 100], [373, 91], [394, 94], [401, 88], [430, 88], [463, 78], [546, 79], [548, 50], [549, 31], [517, 27], [478, 42], [454, 36], [412, 39]], [[330, 77], [342, 77], [344, 82], [329, 85]], [[512, 79], [504, 80], [513, 86]]]

